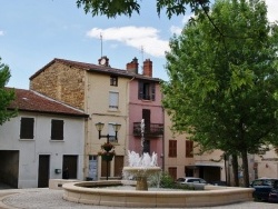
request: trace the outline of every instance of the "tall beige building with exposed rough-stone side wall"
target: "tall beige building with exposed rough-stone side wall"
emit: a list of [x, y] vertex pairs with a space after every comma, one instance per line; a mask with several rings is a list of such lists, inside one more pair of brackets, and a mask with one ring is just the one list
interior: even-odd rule
[[[127, 71], [109, 67], [109, 60], [101, 64], [90, 64], [63, 59], [53, 59], [30, 77], [30, 89], [62, 101], [89, 115], [85, 139], [85, 177], [101, 179], [121, 177], [127, 142]], [[98, 138], [96, 123], [105, 123], [102, 136]], [[115, 140], [112, 125], [119, 123], [118, 141]], [[100, 146], [107, 140], [115, 145], [116, 156], [108, 165], [98, 158]], [[108, 167], [107, 167], [108, 166]], [[107, 173], [108, 172], [108, 173]]]

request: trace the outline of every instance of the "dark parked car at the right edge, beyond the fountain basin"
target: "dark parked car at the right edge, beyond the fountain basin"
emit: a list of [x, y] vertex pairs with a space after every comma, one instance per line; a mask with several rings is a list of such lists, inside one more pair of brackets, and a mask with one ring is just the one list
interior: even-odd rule
[[274, 182], [278, 179], [260, 178], [250, 183], [250, 187], [255, 189], [252, 197], [255, 200], [268, 201], [269, 192], [274, 187]]

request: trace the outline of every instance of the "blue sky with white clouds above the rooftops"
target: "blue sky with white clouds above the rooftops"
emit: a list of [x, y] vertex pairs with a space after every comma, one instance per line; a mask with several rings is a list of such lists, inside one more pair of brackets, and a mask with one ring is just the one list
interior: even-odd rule
[[[152, 77], [168, 80], [165, 51], [190, 9], [169, 20], [165, 12], [158, 17], [155, 0], [139, 2], [140, 14], [108, 19], [86, 14], [76, 0], [0, 0], [0, 57], [11, 71], [7, 86], [29, 89], [29, 78], [54, 58], [98, 64], [101, 56], [117, 69], [136, 57], [139, 72], [150, 59]], [[278, 20], [278, 0], [266, 3], [269, 21]]]

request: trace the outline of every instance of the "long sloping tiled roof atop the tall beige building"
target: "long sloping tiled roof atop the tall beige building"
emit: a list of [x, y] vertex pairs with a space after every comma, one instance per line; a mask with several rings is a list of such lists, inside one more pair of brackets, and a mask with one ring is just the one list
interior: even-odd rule
[[61, 62], [63, 64], [68, 64], [68, 66], [71, 66], [71, 67], [76, 67], [76, 68], [79, 68], [79, 69], [83, 69], [83, 70], [92, 71], [92, 72], [98, 72], [98, 73], [108, 73], [108, 74], [115, 74], [115, 76], [128, 77], [128, 78], [133, 78], [135, 77], [137, 79], [151, 80], [151, 81], [155, 81], [155, 82], [160, 81], [160, 79], [158, 79], [158, 78], [145, 77], [142, 74], [129, 72], [128, 70], [116, 69], [116, 68], [106, 67], [106, 66], [98, 66], [98, 64], [93, 64], [93, 63], [86, 63], [86, 62], [78, 62], [78, 61], [58, 59], [58, 58], [54, 58], [47, 66], [44, 66], [43, 68], [38, 70], [34, 74], [32, 74], [30, 77], [30, 80], [32, 80], [34, 77], [40, 74], [40, 72], [42, 72], [46, 68], [53, 64], [54, 62]]

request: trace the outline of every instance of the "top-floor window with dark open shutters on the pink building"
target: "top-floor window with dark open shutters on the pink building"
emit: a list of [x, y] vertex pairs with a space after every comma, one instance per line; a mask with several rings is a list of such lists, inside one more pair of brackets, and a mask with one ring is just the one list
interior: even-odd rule
[[156, 99], [156, 84], [152, 82], [139, 82], [138, 99], [152, 100]]

